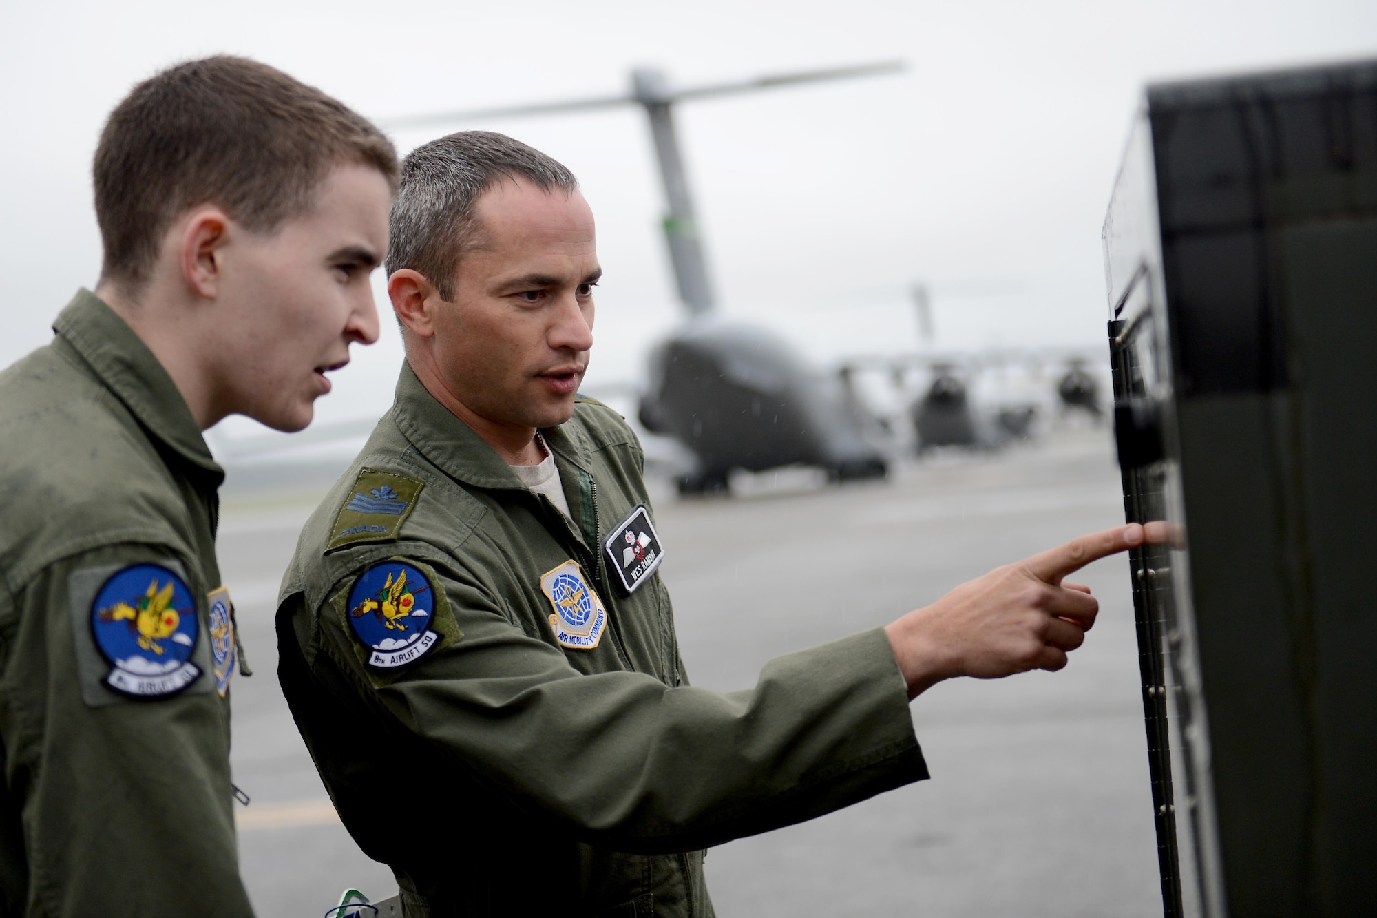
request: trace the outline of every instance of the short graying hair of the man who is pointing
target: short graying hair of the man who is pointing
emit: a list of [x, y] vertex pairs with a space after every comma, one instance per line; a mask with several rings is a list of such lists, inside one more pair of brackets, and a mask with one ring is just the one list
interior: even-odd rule
[[543, 192], [578, 189], [574, 174], [540, 150], [492, 131], [460, 131], [412, 150], [392, 198], [387, 273], [424, 274], [445, 299], [454, 269], [481, 232], [474, 208], [504, 178], [523, 178]]

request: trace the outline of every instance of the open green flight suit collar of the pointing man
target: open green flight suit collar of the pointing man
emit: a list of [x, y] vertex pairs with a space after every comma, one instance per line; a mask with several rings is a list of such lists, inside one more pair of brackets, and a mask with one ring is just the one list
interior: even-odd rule
[[[445, 474], [478, 488], [518, 488], [526, 485], [487, 442], [467, 423], [425, 389], [410, 364], [402, 364], [397, 380], [397, 402], [392, 416], [409, 441]], [[565, 459], [588, 471], [589, 444], [574, 425], [559, 425], [541, 430], [555, 453], [555, 463]], [[565, 470], [560, 470], [566, 474]]]

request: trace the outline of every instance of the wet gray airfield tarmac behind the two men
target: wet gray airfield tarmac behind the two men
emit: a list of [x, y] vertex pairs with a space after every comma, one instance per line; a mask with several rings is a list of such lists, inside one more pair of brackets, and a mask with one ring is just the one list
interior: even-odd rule
[[[395, 892], [340, 826], [275, 680], [273, 611], [328, 482], [235, 489], [219, 554], [256, 675], [233, 686], [240, 866], [263, 918], [321, 915], [346, 886]], [[1103, 429], [902, 463], [887, 482], [746, 477], [733, 499], [655, 484], [683, 656], [697, 685], [755, 682], [788, 651], [890, 622], [1000, 564], [1122, 522]], [[715, 848], [719, 915], [1159, 915], [1128, 562], [1077, 575], [1100, 618], [1062, 673], [940, 684], [912, 706], [932, 779]], [[361, 736], [359, 742], [368, 742]], [[463, 827], [452, 827], [463, 831]], [[419, 844], [430, 844], [417, 839]]]

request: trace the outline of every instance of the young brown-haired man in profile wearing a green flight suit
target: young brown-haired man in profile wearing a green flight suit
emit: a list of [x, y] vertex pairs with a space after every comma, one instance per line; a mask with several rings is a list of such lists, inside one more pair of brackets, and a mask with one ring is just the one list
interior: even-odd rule
[[252, 61], [174, 66], [110, 114], [101, 281], [0, 374], [0, 915], [251, 914], [201, 431], [304, 427], [377, 338], [395, 182], [373, 125]]

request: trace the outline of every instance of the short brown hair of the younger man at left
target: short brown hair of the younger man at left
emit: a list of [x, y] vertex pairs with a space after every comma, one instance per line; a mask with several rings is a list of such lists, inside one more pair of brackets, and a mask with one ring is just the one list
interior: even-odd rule
[[391, 141], [315, 87], [224, 55], [168, 68], [134, 87], [101, 132], [101, 278], [139, 287], [162, 234], [198, 204], [269, 233], [308, 210], [341, 163], [373, 165], [397, 187]]

